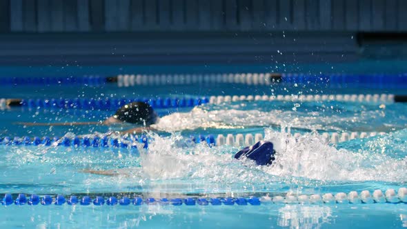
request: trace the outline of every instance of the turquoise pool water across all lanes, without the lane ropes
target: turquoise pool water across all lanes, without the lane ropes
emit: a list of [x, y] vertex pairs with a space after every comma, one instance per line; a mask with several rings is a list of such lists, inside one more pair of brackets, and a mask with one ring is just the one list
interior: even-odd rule
[[[322, 86], [45, 86], [2, 88], [1, 97], [106, 98], [212, 94], [401, 93]], [[396, 191], [407, 181], [407, 105], [380, 102], [239, 101], [157, 110], [148, 152], [123, 148], [0, 146], [0, 193], [143, 198], [312, 195], [362, 190]], [[128, 126], [29, 127], [17, 121], [99, 121], [107, 110], [2, 110], [1, 137], [95, 135]], [[283, 127], [283, 128], [281, 128]], [[285, 128], [284, 128], [285, 127]], [[283, 130], [283, 132], [281, 131]], [[295, 139], [286, 132], [300, 132]], [[326, 144], [328, 132], [384, 135]], [[68, 133], [68, 134], [67, 134]], [[273, 141], [270, 167], [232, 158], [238, 147], [188, 144], [191, 134], [261, 133]], [[83, 170], [115, 170], [117, 176]], [[403, 228], [405, 203], [262, 204], [261, 206], [2, 206], [2, 228]]]

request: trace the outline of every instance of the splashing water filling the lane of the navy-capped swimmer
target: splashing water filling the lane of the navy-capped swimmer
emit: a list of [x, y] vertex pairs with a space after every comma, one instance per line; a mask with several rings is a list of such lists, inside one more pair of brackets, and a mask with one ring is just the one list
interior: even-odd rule
[[[405, 156], [338, 150], [324, 143], [319, 135], [295, 139], [286, 132], [267, 129], [265, 139], [275, 143], [277, 150], [276, 161], [269, 167], [234, 159], [232, 156], [239, 148], [210, 148], [206, 143], [190, 143], [190, 139], [179, 134], [159, 137], [151, 132], [149, 135], [154, 139], [150, 148], [137, 153], [121, 148], [48, 147], [39, 154], [38, 148], [10, 147], [2, 156], [3, 163], [8, 165], [8, 170], [1, 170], [2, 179], [28, 184], [32, 181], [45, 187], [44, 191], [49, 191], [46, 187], [50, 186], [67, 193], [83, 188], [89, 192], [287, 192], [302, 188], [315, 190], [318, 186], [330, 187], [337, 183], [391, 181], [401, 184], [407, 180]], [[18, 170], [18, 174], [14, 175], [10, 168]], [[87, 168], [115, 170], [115, 176], [81, 172]]]

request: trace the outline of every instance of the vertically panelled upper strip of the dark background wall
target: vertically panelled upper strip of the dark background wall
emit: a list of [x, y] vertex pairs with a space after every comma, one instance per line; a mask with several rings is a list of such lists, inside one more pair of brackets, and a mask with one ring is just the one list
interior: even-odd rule
[[1, 0], [1, 32], [407, 31], [405, 0]]

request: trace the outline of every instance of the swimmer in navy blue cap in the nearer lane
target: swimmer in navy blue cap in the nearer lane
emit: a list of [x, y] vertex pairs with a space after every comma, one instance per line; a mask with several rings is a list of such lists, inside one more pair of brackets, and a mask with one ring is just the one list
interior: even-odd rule
[[[239, 150], [234, 156], [235, 159], [249, 159], [255, 161], [257, 166], [270, 166], [273, 161], [275, 161], [275, 150], [272, 142], [270, 141], [259, 141], [253, 146], [248, 146]], [[95, 175], [105, 175], [105, 176], [130, 176], [131, 170], [129, 169], [115, 169], [115, 170], [82, 170], [81, 172], [86, 172]]]

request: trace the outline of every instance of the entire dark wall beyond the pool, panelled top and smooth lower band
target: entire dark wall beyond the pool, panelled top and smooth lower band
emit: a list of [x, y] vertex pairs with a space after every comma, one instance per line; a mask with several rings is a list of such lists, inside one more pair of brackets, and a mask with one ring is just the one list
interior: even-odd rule
[[406, 0], [0, 0], [0, 64], [349, 61], [366, 32], [407, 32], [406, 12]]

